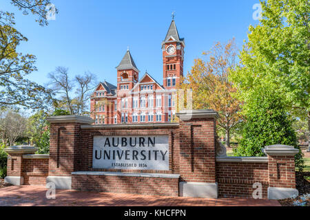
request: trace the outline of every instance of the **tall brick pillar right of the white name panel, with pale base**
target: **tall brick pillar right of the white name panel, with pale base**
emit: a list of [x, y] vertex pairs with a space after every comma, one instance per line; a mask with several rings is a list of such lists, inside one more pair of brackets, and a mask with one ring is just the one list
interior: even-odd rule
[[216, 117], [213, 110], [176, 113], [180, 118], [180, 196], [218, 197]]

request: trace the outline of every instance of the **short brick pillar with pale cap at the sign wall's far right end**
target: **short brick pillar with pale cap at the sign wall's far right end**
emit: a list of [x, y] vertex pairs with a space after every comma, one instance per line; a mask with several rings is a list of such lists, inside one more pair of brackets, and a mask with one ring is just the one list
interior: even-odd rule
[[298, 149], [276, 144], [265, 146], [264, 151], [268, 155], [268, 199], [287, 199], [298, 195], [294, 160]]

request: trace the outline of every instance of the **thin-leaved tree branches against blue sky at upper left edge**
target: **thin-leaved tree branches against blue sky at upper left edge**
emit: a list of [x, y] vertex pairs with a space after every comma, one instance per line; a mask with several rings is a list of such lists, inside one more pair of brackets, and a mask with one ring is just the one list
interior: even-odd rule
[[[45, 5], [49, 0], [12, 0], [23, 14], [37, 15], [40, 25], [47, 25]], [[0, 108], [23, 106], [32, 109], [45, 107], [50, 91], [26, 78], [37, 71], [32, 54], [21, 54], [17, 47], [28, 39], [14, 28], [14, 14], [0, 10]]]

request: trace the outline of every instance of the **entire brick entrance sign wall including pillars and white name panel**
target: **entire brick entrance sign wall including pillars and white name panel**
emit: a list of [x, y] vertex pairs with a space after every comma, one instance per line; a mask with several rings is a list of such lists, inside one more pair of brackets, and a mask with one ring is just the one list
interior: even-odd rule
[[185, 197], [296, 195], [291, 146], [266, 146], [267, 157], [217, 157], [212, 110], [178, 113], [180, 122], [93, 125], [65, 115], [50, 121], [50, 155], [29, 146], [6, 148], [15, 185], [54, 182], [56, 188]]

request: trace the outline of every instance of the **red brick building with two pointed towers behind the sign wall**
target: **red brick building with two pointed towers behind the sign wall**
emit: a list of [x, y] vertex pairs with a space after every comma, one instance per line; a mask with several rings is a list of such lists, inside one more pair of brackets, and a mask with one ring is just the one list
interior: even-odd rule
[[117, 86], [99, 83], [90, 100], [95, 124], [171, 122], [175, 118], [174, 94], [183, 76], [184, 39], [180, 39], [174, 20], [163, 49], [163, 84], [147, 72], [140, 78], [130, 50], [116, 67]]

